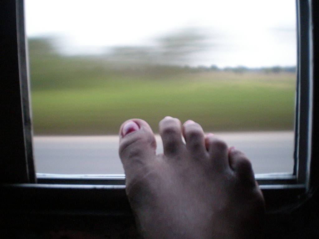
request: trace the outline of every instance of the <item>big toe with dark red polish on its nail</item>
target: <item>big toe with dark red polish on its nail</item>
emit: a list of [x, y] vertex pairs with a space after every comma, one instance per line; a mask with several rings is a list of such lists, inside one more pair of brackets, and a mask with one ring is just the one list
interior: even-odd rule
[[127, 178], [138, 176], [155, 159], [155, 150], [155, 136], [144, 120], [132, 119], [122, 124], [119, 155]]

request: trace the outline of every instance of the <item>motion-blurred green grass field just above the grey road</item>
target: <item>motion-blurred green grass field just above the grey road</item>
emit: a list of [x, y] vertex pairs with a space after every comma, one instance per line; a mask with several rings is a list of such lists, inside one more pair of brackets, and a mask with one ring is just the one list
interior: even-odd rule
[[293, 129], [293, 75], [224, 74], [32, 91], [34, 132], [114, 134], [129, 118], [145, 119], [157, 130], [166, 115], [196, 120], [208, 131]]

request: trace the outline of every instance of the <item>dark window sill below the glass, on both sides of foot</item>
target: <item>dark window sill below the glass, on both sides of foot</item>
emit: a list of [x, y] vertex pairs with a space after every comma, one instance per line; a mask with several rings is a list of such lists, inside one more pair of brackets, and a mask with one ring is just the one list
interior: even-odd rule
[[[37, 174], [37, 184], [0, 185], [0, 210], [45, 214], [132, 216], [124, 175]], [[306, 197], [306, 187], [289, 174], [256, 175], [267, 212], [289, 210]]]

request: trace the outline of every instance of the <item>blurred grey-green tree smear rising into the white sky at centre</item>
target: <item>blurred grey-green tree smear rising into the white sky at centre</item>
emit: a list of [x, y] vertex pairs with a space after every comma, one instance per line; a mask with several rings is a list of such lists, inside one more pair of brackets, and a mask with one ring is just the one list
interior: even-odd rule
[[111, 61], [142, 65], [188, 65], [192, 54], [211, 47], [197, 28], [182, 29], [154, 40], [151, 46], [121, 46], [109, 49]]

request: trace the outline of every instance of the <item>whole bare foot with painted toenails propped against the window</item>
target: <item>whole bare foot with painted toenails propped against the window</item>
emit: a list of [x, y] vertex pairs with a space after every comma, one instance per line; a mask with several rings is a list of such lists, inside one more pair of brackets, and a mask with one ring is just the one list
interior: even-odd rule
[[[188, 120], [159, 123], [164, 154], [150, 126], [120, 129], [126, 193], [144, 238], [255, 238], [264, 200], [249, 160]], [[182, 135], [185, 143], [182, 141]]]

